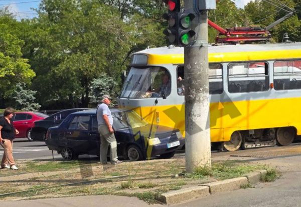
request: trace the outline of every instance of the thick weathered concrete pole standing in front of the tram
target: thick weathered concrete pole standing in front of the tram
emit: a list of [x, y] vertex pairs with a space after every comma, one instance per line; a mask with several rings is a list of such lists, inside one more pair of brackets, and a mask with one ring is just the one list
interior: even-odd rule
[[[184, 0], [185, 10], [194, 0]], [[186, 171], [211, 166], [207, 10], [197, 14], [196, 42], [184, 48]], [[196, 20], [197, 21], [197, 20]], [[208, 122], [207, 122], [208, 121]]]

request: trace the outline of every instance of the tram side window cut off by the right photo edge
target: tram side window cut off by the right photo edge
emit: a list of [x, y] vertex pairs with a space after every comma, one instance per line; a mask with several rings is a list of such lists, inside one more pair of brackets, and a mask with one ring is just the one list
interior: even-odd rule
[[301, 60], [274, 62], [274, 88], [301, 89]]

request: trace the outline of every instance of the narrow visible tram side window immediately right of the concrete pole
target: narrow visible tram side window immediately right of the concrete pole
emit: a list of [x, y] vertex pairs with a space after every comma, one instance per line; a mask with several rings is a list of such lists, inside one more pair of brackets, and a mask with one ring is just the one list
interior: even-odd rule
[[224, 87], [222, 70], [222, 64], [209, 64], [209, 94], [221, 94], [223, 92]]

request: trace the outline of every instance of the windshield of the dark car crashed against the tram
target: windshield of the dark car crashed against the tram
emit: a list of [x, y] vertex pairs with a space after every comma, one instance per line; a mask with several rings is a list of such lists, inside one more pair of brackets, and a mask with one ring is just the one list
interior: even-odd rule
[[141, 127], [147, 124], [147, 122], [133, 110], [114, 112], [113, 118], [115, 130], [128, 127]]

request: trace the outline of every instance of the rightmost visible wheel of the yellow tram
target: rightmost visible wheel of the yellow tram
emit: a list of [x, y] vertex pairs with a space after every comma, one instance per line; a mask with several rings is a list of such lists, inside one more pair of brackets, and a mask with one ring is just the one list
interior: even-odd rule
[[293, 127], [281, 127], [277, 129], [276, 141], [278, 146], [286, 146], [291, 144], [295, 138], [296, 132]]

